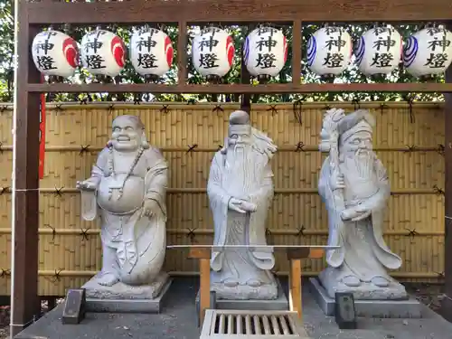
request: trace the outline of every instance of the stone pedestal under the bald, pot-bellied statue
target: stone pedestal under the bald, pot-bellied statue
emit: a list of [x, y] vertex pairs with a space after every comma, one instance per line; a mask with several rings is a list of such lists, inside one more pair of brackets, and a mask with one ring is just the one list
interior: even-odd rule
[[86, 289], [89, 312], [160, 313], [171, 283], [168, 274], [160, 273], [155, 282], [145, 286], [128, 286], [118, 282], [106, 287], [99, 285], [94, 277], [82, 288]]

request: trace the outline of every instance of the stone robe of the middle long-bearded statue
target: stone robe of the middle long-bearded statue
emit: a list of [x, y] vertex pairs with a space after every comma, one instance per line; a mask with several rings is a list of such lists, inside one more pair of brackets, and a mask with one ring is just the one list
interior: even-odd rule
[[[225, 152], [212, 160], [207, 193], [214, 222], [214, 246], [267, 245], [265, 222], [273, 198], [273, 173], [268, 154], [252, 149], [251, 161], [244, 164], [226, 162]], [[228, 208], [230, 199], [247, 197], [257, 205], [256, 212], [240, 213]], [[269, 271], [275, 265], [272, 250], [228, 249], [212, 252], [212, 283], [233, 280], [246, 285], [250, 280], [275, 284]]]

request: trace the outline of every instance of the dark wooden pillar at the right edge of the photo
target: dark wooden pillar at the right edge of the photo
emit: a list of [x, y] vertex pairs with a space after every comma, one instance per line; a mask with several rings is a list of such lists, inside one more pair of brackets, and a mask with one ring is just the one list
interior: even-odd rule
[[[447, 24], [447, 29], [452, 30], [452, 22]], [[452, 83], [452, 65], [446, 71], [446, 82]], [[442, 315], [452, 322], [452, 93], [444, 94], [445, 106], [445, 240], [444, 240], [444, 277], [445, 297], [441, 305]]]

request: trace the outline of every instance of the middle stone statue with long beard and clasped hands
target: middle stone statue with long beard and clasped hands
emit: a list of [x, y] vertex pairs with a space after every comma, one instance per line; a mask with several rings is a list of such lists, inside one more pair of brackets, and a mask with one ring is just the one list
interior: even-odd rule
[[[269, 160], [272, 140], [235, 111], [229, 136], [213, 160], [207, 194], [214, 222], [214, 245], [267, 245], [266, 218], [273, 198]], [[212, 252], [212, 290], [222, 299], [274, 299], [278, 284], [269, 269], [272, 250], [246, 248]]]

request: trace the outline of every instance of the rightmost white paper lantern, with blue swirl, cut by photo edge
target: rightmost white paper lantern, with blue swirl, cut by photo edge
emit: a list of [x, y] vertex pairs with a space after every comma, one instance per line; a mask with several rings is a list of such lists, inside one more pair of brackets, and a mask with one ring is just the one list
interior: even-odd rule
[[410, 36], [403, 48], [403, 65], [415, 77], [439, 74], [452, 61], [452, 33], [428, 27]]

